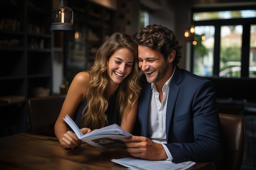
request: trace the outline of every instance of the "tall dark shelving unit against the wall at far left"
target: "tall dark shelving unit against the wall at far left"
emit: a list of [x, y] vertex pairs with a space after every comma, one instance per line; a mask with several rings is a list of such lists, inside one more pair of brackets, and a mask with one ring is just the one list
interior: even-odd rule
[[[1, 136], [27, 132], [27, 98], [52, 93], [52, 0], [1, 0]], [[19, 98], [20, 99], [20, 98]]]

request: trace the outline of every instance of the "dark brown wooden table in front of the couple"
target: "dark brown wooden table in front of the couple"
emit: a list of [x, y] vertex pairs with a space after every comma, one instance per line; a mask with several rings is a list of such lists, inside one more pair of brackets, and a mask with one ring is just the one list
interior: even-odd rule
[[[126, 170], [110, 161], [131, 157], [126, 149], [99, 150], [88, 144], [63, 149], [55, 137], [20, 133], [0, 138], [0, 170]], [[188, 170], [212, 169], [209, 162]]]

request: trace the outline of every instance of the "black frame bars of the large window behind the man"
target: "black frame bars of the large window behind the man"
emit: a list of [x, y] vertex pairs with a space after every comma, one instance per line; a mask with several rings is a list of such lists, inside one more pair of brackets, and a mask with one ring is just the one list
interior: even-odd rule
[[[213, 76], [220, 77], [220, 29], [225, 25], [242, 25], [242, 51], [241, 51], [241, 77], [249, 77], [249, 51], [250, 51], [250, 25], [256, 24], [256, 18], [234, 18], [234, 19], [219, 19], [219, 20], [202, 20], [193, 21], [193, 13], [209, 12], [209, 11], [231, 11], [231, 10], [246, 10], [255, 9], [255, 6], [244, 7], [213, 7], [213, 8], [192, 8], [191, 22], [194, 26], [215, 26], [214, 34], [214, 50], [213, 50]], [[191, 72], [194, 66], [194, 48], [191, 43]], [[232, 78], [232, 77], [230, 77]], [[253, 79], [253, 78], [252, 78]]]

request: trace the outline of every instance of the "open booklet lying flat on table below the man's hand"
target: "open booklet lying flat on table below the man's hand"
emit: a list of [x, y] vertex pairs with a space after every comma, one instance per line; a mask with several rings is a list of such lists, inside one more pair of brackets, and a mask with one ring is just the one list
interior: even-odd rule
[[129, 170], [186, 170], [195, 165], [193, 161], [173, 163], [172, 161], [149, 161], [137, 157], [111, 159], [112, 162], [127, 167]]

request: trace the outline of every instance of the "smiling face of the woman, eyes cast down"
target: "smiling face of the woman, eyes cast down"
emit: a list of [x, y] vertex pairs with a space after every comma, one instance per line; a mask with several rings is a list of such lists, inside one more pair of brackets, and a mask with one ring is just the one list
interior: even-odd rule
[[132, 71], [133, 53], [126, 49], [118, 49], [108, 59], [108, 76], [110, 81], [120, 84]]

